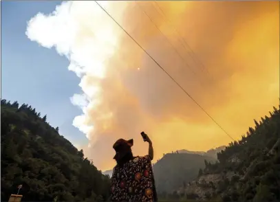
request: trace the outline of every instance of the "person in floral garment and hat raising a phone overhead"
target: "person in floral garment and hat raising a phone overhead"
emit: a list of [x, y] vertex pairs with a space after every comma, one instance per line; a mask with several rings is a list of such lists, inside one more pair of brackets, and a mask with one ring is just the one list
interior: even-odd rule
[[147, 134], [141, 135], [149, 143], [149, 155], [144, 157], [133, 157], [133, 139], [118, 139], [113, 146], [117, 165], [111, 177], [111, 201], [157, 201], [151, 166], [153, 146]]

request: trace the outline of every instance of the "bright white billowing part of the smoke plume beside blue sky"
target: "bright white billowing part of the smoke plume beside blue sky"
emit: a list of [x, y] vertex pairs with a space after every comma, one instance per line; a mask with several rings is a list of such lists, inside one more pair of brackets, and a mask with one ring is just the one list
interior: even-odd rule
[[[109, 8], [107, 1], [100, 5]], [[121, 8], [120, 8], [121, 9]], [[49, 15], [36, 14], [29, 22], [26, 35], [43, 47], [55, 47], [58, 54], [70, 61], [68, 69], [80, 77], [83, 94], [74, 94], [71, 102], [83, 109], [73, 124], [90, 139], [94, 123], [87, 117], [89, 109], [96, 110], [102, 103], [100, 82], [107, 74], [106, 60], [118, 47], [118, 30], [114, 22], [94, 1], [68, 1]], [[104, 118], [109, 109], [100, 112]], [[93, 142], [91, 142], [92, 144]]]

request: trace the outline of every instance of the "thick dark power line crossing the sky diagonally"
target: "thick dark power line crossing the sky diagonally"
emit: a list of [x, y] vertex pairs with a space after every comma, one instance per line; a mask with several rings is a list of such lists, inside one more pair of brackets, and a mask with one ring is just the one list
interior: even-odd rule
[[[169, 78], [171, 78], [173, 80], [173, 82], [175, 82], [175, 84], [177, 84], [178, 87], [180, 87], [180, 89], [182, 89], [182, 91], [184, 91], [184, 93], [186, 93], [187, 96], [189, 96], [189, 98], [191, 98], [191, 100], [193, 100], [193, 102], [195, 102], [195, 104], [197, 104], [197, 106], [200, 107], [200, 109], [202, 109], [202, 111], [204, 111], [204, 113], [206, 113], [206, 115], [208, 115], [208, 117], [211, 118], [211, 120], [213, 120], [213, 122], [219, 126], [219, 128], [222, 129], [222, 131], [224, 131], [224, 133], [226, 133], [226, 135], [228, 135], [228, 137], [230, 137], [230, 139], [233, 139], [233, 137], [231, 137], [225, 130], [224, 128], [222, 128], [221, 125], [219, 125], [211, 115], [209, 115], [207, 113], [207, 111], [200, 105], [198, 104], [195, 99], [172, 77], [170, 76], [163, 68], [160, 64], [158, 64], [157, 61], [155, 61], [155, 59], [153, 59], [153, 57], [107, 12], [107, 10], [105, 10], [99, 3], [97, 3], [97, 1], [95, 1], [96, 4], [153, 60], [153, 62], [155, 62], [155, 64], [158, 65], [158, 67], [160, 67], [160, 69], [162, 69], [162, 71], [164, 71], [165, 74], [167, 74], [167, 76], [169, 76]], [[235, 141], [233, 139], [233, 141]]]

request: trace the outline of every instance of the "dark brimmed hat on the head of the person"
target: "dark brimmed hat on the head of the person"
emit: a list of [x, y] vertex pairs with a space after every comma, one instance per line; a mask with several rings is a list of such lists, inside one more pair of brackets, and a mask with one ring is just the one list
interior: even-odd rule
[[113, 145], [113, 148], [116, 151], [114, 159], [121, 159], [122, 157], [124, 157], [131, 146], [133, 146], [133, 139], [118, 139]]

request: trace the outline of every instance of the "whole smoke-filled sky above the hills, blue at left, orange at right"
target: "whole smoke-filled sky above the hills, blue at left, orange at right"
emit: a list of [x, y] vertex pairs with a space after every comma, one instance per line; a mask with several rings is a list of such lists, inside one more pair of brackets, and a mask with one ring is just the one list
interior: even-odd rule
[[[28, 15], [12, 5], [6, 13], [6, 30], [11, 29], [11, 12], [25, 16], [18, 22], [24, 27], [21, 43], [10, 38], [14, 43], [10, 57], [14, 52], [26, 54], [28, 62], [6, 62], [10, 70], [3, 89], [7, 98], [28, 101], [50, 118], [53, 115], [54, 126], [72, 120], [89, 144], [70, 140], [98, 168], [114, 166], [111, 146], [120, 137], [134, 138], [135, 155], [147, 153], [141, 131], [151, 136], [155, 159], [171, 150], [208, 150], [230, 142], [94, 1], [64, 2], [56, 9], [49, 5], [49, 10], [37, 4]], [[278, 2], [100, 1], [100, 5], [234, 139], [279, 103]], [[67, 133], [85, 137], [72, 129]]]

